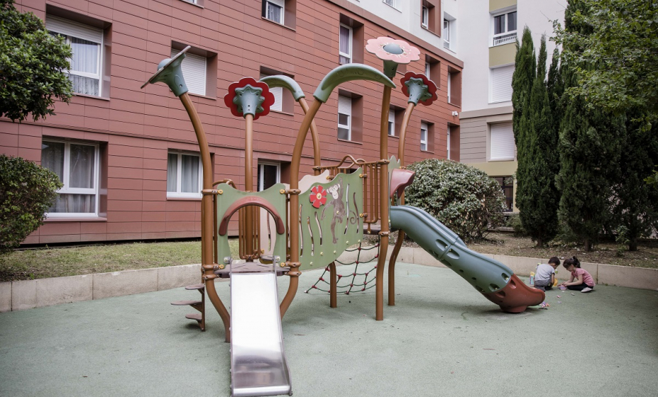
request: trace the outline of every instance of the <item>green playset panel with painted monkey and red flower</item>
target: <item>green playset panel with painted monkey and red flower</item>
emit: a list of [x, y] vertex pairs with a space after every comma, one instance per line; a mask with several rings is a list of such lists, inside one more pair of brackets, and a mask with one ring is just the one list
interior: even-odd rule
[[338, 174], [300, 195], [301, 269], [334, 262], [363, 238], [363, 170]]

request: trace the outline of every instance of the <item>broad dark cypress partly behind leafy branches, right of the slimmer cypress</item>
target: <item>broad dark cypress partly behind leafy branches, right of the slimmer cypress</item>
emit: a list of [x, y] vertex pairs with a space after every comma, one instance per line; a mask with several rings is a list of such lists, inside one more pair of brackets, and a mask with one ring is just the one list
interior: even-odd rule
[[[565, 29], [587, 35], [588, 26], [572, 23], [576, 12], [589, 12], [580, 0], [571, 0], [564, 13]], [[578, 51], [579, 48], [570, 48]], [[564, 60], [561, 65], [565, 89], [576, 84], [576, 75]], [[560, 172], [556, 179], [561, 191], [559, 218], [584, 240], [585, 250], [593, 245], [610, 217], [611, 181], [618, 169], [623, 117], [586, 109], [582, 97], [563, 96], [564, 117], [559, 135]]]

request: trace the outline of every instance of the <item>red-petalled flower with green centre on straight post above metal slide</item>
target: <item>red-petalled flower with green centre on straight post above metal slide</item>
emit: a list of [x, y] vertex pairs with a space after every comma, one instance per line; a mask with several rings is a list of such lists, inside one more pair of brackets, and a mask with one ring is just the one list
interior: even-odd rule
[[254, 120], [270, 113], [274, 104], [274, 94], [268, 84], [257, 82], [252, 77], [243, 77], [239, 82], [229, 85], [229, 92], [224, 96], [224, 104], [231, 109], [234, 116], [253, 115]]

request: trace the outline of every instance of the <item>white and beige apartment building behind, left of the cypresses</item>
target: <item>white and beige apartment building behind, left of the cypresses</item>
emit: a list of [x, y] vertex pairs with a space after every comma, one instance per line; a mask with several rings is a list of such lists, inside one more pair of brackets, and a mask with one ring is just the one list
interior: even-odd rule
[[[458, 2], [457, 35], [464, 61], [460, 161], [497, 179], [509, 211], [514, 206], [517, 158], [512, 133], [512, 74], [516, 40], [524, 26], [532, 30], [539, 51], [542, 34], [552, 35], [552, 21], [564, 20], [566, 3], [532, 0], [444, 0]], [[555, 43], [547, 41], [549, 60]]]

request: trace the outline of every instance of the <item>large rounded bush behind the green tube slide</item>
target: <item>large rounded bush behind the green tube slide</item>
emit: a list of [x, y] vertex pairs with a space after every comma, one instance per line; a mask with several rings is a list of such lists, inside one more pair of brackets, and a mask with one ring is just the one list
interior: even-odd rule
[[464, 240], [481, 240], [489, 228], [503, 225], [505, 196], [495, 179], [468, 164], [427, 159], [409, 167], [416, 172], [405, 201], [430, 213]]

